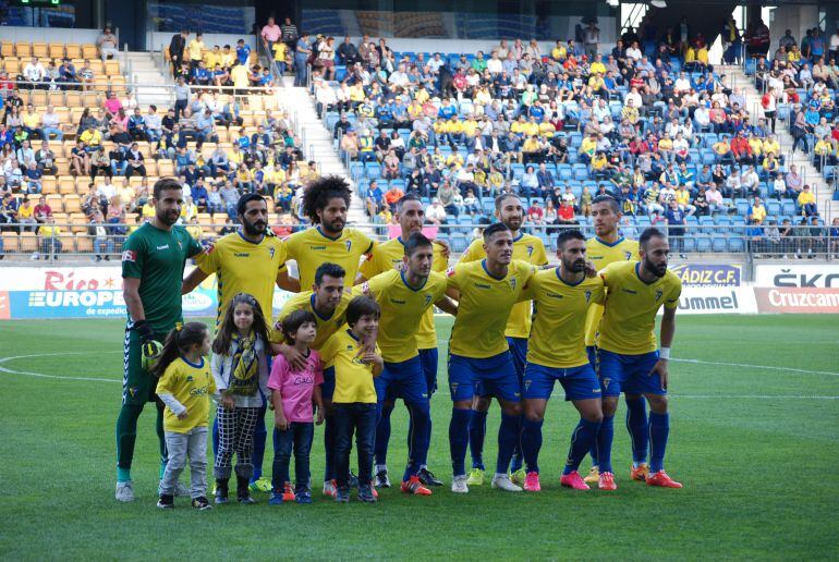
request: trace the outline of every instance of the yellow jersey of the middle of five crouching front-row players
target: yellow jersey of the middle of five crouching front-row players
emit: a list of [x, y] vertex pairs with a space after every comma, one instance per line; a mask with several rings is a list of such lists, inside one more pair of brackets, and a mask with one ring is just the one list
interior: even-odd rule
[[507, 318], [535, 272], [535, 267], [515, 259], [501, 279], [489, 274], [483, 259], [449, 270], [449, 288], [460, 292], [449, 351], [476, 359], [507, 351]]

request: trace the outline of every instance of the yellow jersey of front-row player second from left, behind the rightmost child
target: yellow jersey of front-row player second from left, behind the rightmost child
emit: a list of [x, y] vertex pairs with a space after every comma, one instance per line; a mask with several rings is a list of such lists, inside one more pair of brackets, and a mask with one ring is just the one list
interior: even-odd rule
[[353, 289], [353, 296], [370, 296], [381, 307], [378, 344], [385, 361], [401, 363], [420, 353], [416, 331], [426, 313], [446, 294], [447, 289], [446, 276], [434, 271], [421, 289], [413, 289], [405, 282], [405, 274], [396, 269]]

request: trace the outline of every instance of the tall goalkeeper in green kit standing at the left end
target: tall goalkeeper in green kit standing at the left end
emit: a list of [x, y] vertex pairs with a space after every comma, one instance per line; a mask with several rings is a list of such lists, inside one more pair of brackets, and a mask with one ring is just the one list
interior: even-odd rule
[[175, 225], [183, 205], [183, 190], [178, 180], [165, 178], [155, 183], [151, 203], [155, 217], [129, 236], [122, 253], [122, 292], [129, 321], [123, 354], [122, 408], [117, 418], [119, 501], [134, 500], [131, 462], [137, 419], [147, 402], [157, 405], [161, 475], [166, 468], [165, 405], [155, 393], [157, 378], [150, 370], [162, 349], [160, 342], [183, 322], [181, 283], [186, 260], [203, 252], [183, 227]]

